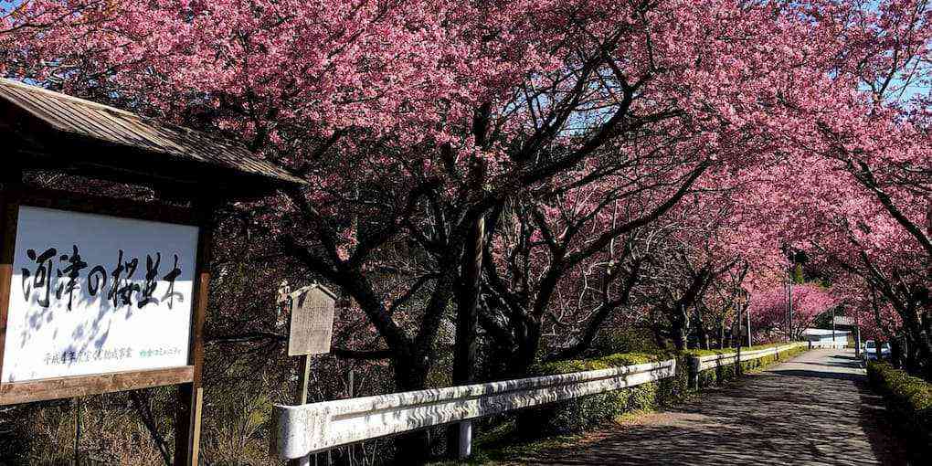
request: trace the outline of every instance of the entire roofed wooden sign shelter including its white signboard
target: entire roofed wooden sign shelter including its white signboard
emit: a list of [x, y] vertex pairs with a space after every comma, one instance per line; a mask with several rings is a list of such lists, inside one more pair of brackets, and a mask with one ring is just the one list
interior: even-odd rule
[[[211, 135], [7, 80], [0, 140], [0, 405], [177, 385], [174, 462], [196, 464], [212, 210], [304, 182]], [[29, 171], [190, 207], [39, 189]]]

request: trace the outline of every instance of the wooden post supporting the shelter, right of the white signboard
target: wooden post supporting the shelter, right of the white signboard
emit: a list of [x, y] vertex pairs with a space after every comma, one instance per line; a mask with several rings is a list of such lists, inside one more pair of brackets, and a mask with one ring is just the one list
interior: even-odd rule
[[197, 210], [200, 224], [198, 265], [194, 276], [194, 302], [191, 306], [191, 351], [188, 354], [188, 363], [194, 366], [194, 381], [178, 387], [178, 401], [181, 406], [176, 414], [175, 421], [175, 466], [194, 466], [198, 464], [200, 415], [204, 400], [200, 377], [204, 365], [203, 327], [207, 315], [207, 297], [211, 283], [213, 204], [211, 202], [202, 202], [197, 203], [194, 207]]

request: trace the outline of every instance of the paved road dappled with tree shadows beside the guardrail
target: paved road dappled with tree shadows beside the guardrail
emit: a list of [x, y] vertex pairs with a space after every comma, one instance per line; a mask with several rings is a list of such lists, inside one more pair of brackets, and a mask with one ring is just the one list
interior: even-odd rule
[[[910, 464], [854, 351], [814, 349], [525, 464]], [[913, 463], [915, 464], [915, 463]]]

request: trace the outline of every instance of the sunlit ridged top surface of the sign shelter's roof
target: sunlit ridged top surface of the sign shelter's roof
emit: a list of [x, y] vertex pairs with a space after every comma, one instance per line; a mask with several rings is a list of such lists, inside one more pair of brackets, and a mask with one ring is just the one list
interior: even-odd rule
[[101, 103], [8, 79], [0, 79], [0, 99], [42, 120], [53, 130], [171, 158], [221, 166], [288, 184], [305, 183], [288, 171], [255, 158], [239, 144], [201, 131], [140, 117]]

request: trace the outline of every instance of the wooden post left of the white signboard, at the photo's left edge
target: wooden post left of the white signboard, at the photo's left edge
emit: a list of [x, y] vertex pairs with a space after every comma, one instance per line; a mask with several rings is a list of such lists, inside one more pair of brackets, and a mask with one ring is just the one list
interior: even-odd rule
[[4, 191], [0, 192], [0, 371], [3, 370], [4, 348], [7, 344], [7, 311], [10, 282], [13, 280], [13, 257], [16, 248], [16, 227], [20, 218], [22, 170], [11, 167], [0, 175]]

